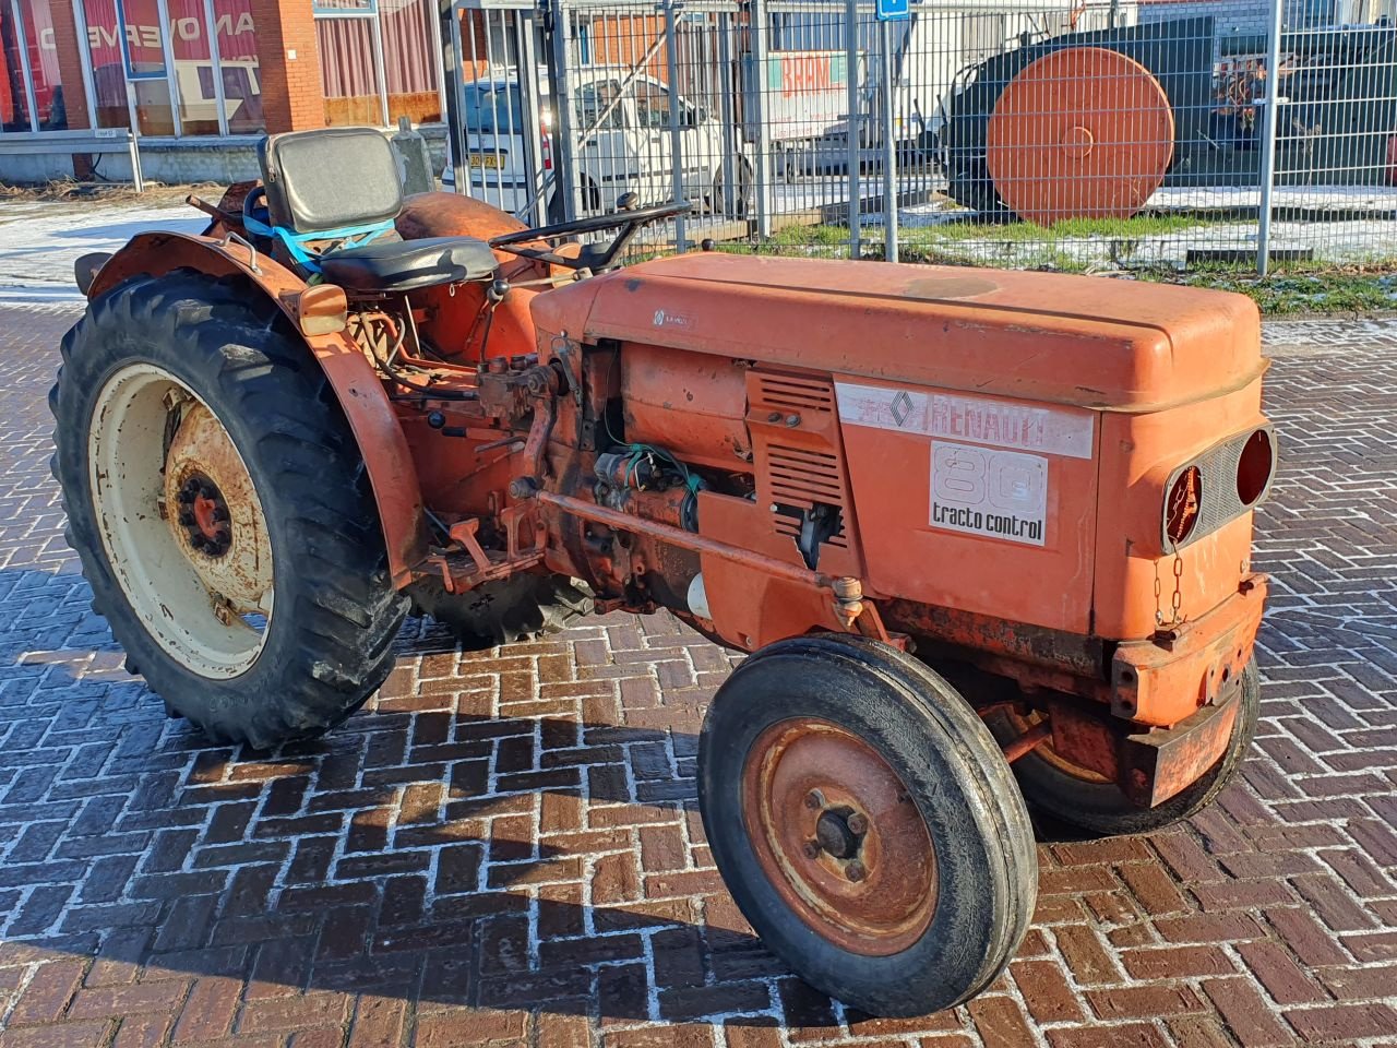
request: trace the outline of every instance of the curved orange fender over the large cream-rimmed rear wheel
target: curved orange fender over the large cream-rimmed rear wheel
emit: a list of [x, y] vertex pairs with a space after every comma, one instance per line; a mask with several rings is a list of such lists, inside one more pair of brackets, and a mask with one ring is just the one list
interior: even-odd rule
[[[412, 566], [426, 556], [426, 521], [416, 467], [379, 373], [355, 341], [344, 334], [342, 320], [337, 327], [332, 316], [319, 316], [320, 309], [312, 313], [309, 298], [302, 298], [310, 286], [275, 259], [242, 240], [215, 240], [189, 233], [140, 233], [131, 238], [102, 265], [87, 295], [95, 299], [130, 277], [161, 277], [180, 268], [211, 277], [247, 277], [300, 331], [349, 419], [363, 456], [394, 585], [401, 588], [411, 583]], [[341, 317], [342, 302], [341, 296]], [[307, 328], [317, 333], [307, 334]]]

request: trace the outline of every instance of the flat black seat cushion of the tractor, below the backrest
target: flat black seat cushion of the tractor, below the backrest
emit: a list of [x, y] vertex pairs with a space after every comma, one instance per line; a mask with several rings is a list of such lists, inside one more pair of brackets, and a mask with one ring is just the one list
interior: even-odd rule
[[495, 252], [472, 236], [387, 240], [320, 257], [320, 271], [345, 291], [412, 291], [489, 277]]

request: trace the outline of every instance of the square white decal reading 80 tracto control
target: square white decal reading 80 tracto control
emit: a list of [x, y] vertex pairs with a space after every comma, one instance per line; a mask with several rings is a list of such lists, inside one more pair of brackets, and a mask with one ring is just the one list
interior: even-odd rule
[[1044, 545], [1048, 460], [988, 447], [932, 444], [932, 527]]

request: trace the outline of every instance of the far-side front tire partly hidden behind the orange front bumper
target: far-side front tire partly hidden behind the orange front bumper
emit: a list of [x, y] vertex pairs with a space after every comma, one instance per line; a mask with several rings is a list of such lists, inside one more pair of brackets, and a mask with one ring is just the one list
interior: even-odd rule
[[[1066, 766], [1048, 745], [1014, 762], [1014, 776], [1035, 812], [1084, 831], [1092, 837], [1154, 833], [1183, 822], [1213, 803], [1241, 770], [1261, 710], [1260, 675], [1256, 660], [1242, 671], [1242, 694], [1228, 748], [1211, 769], [1194, 783], [1155, 808], [1140, 808], [1111, 781]], [[1024, 725], [1009, 714], [992, 714], [986, 721], [1000, 743], [1007, 745]], [[1048, 752], [1044, 752], [1048, 750]]]

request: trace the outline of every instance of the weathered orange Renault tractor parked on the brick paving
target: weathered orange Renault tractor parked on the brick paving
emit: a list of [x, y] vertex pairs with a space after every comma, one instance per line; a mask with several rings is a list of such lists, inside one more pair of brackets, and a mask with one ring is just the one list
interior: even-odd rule
[[882, 1014], [1003, 970], [1030, 806], [1134, 833], [1236, 773], [1275, 467], [1246, 299], [619, 268], [682, 208], [404, 201], [359, 129], [275, 136], [263, 169], [193, 201], [205, 235], [80, 263], [52, 394], [68, 541], [172, 714], [324, 732], [412, 606], [475, 646], [669, 609], [753, 653], [700, 743], [718, 869], [796, 973]]

